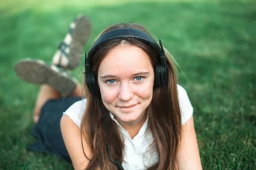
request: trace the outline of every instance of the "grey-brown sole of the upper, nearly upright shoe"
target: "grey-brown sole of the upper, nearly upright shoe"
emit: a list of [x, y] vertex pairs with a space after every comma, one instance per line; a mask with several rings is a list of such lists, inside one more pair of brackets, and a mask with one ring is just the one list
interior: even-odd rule
[[75, 69], [81, 63], [81, 51], [84, 44], [90, 37], [91, 32], [91, 23], [90, 19], [85, 16], [81, 16], [76, 21], [76, 27], [72, 32], [72, 41], [70, 44], [70, 53], [69, 53], [69, 64], [68, 68]]

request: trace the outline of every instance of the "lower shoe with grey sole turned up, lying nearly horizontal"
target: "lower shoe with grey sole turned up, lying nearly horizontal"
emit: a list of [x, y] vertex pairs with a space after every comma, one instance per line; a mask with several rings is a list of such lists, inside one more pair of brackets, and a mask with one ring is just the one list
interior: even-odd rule
[[61, 94], [73, 93], [77, 80], [67, 71], [39, 59], [22, 59], [15, 65], [15, 73], [26, 82], [47, 84]]

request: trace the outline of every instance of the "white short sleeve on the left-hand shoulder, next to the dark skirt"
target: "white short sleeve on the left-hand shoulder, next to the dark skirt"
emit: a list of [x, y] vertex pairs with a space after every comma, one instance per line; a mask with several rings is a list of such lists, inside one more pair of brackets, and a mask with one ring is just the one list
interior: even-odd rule
[[76, 123], [76, 125], [80, 128], [81, 120], [84, 115], [85, 106], [86, 106], [86, 99], [80, 100], [78, 102], [75, 102], [73, 105], [71, 105], [67, 111], [65, 111], [63, 114], [66, 114], [70, 117], [70, 119], [73, 120], [73, 122]]

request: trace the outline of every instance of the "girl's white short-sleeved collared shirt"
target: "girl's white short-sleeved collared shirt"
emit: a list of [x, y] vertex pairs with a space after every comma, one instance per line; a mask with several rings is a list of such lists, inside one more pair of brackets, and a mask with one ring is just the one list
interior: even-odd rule
[[[193, 108], [189, 101], [189, 97], [186, 94], [186, 90], [180, 85], [177, 85], [177, 90], [180, 102], [181, 123], [184, 125], [192, 116]], [[80, 127], [81, 119], [85, 111], [85, 105], [86, 99], [75, 102], [63, 114], [69, 116], [70, 119]], [[145, 170], [159, 161], [159, 156], [154, 147], [149, 148], [153, 141], [152, 133], [151, 131], [145, 133], [148, 119], [146, 119], [143, 126], [140, 128], [139, 133], [131, 139], [129, 133], [116, 121], [113, 114], [111, 114], [111, 118], [117, 125], [119, 125], [124, 139], [125, 151], [122, 166], [125, 170]]]

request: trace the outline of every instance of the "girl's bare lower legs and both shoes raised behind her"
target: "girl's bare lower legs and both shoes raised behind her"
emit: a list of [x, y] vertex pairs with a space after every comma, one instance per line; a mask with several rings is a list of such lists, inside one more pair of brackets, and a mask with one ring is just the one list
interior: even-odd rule
[[41, 84], [34, 108], [34, 122], [38, 122], [41, 108], [49, 99], [64, 96], [82, 96], [81, 85], [66, 69], [78, 67], [82, 46], [87, 42], [91, 31], [90, 20], [79, 16], [70, 24], [70, 30], [59, 45], [52, 64], [41, 60], [23, 59], [15, 65], [18, 77], [26, 82]]

